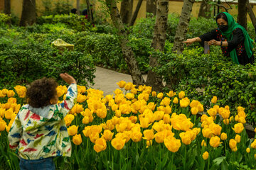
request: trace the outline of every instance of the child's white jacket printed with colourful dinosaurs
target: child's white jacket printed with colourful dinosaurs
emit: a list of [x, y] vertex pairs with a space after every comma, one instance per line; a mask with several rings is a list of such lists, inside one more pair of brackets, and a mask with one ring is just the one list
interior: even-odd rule
[[9, 147], [23, 159], [71, 155], [71, 143], [64, 117], [74, 106], [77, 84], [70, 84], [65, 101], [43, 108], [23, 106], [9, 130]]

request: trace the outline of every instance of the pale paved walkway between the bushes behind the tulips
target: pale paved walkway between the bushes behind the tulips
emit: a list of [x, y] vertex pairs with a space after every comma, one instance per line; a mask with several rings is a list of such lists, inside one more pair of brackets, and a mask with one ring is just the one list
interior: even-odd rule
[[[146, 75], [143, 75], [144, 80], [146, 80]], [[117, 82], [119, 81], [132, 82], [132, 77], [129, 74], [122, 74], [119, 72], [114, 72], [110, 69], [104, 69], [102, 67], [96, 67], [95, 72], [95, 84], [89, 85], [92, 89], [99, 89], [104, 92], [104, 96], [108, 94], [114, 94], [115, 89], [119, 89]]]

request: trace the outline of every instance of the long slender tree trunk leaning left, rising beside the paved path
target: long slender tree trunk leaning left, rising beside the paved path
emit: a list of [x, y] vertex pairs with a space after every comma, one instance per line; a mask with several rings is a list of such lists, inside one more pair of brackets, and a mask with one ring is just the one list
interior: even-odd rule
[[129, 40], [127, 38], [127, 33], [126, 33], [126, 30], [124, 29], [124, 24], [122, 23], [122, 18], [117, 8], [117, 3], [114, 0], [106, 0], [106, 5], [108, 10], [110, 11], [110, 17], [111, 17], [112, 23], [114, 27], [117, 29], [119, 44], [122, 49], [124, 60], [127, 63], [129, 73], [132, 76], [133, 84], [136, 84], [136, 85], [144, 84], [142, 72], [140, 72], [139, 70], [137, 60], [135, 59], [134, 53], [132, 52], [132, 47], [127, 45]]

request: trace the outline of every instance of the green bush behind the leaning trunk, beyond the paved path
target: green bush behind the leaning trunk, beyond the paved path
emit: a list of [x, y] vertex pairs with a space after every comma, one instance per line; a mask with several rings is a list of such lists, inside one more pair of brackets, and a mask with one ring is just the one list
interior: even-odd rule
[[[117, 69], [120, 72], [127, 72], [127, 64], [122, 57], [122, 50], [116, 36], [80, 33], [76, 37], [75, 48], [92, 55], [95, 64], [109, 69]], [[149, 67], [150, 44], [151, 40], [146, 38], [130, 37], [129, 45], [132, 47], [139, 68], [143, 72], [147, 72]]]

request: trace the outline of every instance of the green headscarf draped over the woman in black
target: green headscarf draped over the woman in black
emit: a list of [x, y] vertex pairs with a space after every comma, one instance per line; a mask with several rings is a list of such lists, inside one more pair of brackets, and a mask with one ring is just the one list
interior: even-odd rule
[[[240, 26], [238, 23], [235, 22], [235, 19], [233, 18], [233, 16], [231, 16], [229, 13], [226, 13], [226, 12], [223, 12], [223, 13], [225, 13], [225, 16], [227, 16], [228, 18], [228, 30], [226, 30], [225, 32], [220, 30], [220, 33], [224, 35], [226, 38], [228, 38], [228, 40], [232, 40], [233, 30], [235, 30], [236, 28], [240, 28], [245, 37], [245, 50], [246, 50], [247, 56], [250, 58], [252, 56], [253, 40], [250, 38], [245, 28], [243, 28], [242, 26]], [[236, 55], [235, 49], [230, 52], [230, 56], [233, 62], [235, 62], [235, 64], [239, 64], [238, 56]]]

